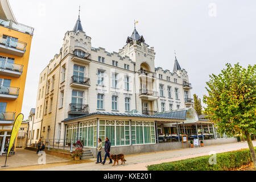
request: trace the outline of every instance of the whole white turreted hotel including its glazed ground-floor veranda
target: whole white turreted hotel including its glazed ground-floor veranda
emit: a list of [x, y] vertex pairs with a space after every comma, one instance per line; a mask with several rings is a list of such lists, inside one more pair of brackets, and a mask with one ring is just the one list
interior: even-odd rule
[[[154, 47], [135, 28], [118, 52], [93, 48], [79, 17], [65, 33], [60, 52], [40, 73], [28, 143], [42, 137], [51, 145], [67, 146], [72, 139], [96, 148], [98, 137], [109, 137], [112, 146], [133, 153], [142, 150], [138, 146], [158, 144], [160, 133], [199, 131], [192, 124], [184, 127], [188, 121], [200, 126], [191, 107], [187, 71], [176, 56], [173, 71], [155, 68], [154, 60]], [[212, 123], [201, 123], [215, 137]]]

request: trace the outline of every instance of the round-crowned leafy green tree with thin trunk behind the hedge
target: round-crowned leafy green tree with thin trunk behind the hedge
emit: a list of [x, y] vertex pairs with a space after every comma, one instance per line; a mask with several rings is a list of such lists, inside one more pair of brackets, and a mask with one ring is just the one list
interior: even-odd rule
[[256, 168], [255, 151], [250, 133], [256, 131], [256, 65], [242, 68], [226, 64], [220, 75], [210, 75], [203, 102], [205, 114], [217, 126], [218, 132], [246, 136]]

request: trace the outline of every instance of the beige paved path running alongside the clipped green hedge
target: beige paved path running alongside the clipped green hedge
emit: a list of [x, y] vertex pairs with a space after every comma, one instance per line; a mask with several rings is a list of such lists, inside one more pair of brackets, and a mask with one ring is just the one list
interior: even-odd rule
[[[254, 146], [256, 146], [256, 142], [253, 142]], [[171, 151], [160, 151], [160, 152], [149, 152], [144, 154], [134, 154], [134, 155], [126, 155], [125, 159], [127, 162], [123, 165], [112, 167], [109, 163], [109, 160], [106, 161], [106, 164], [103, 166], [102, 164], [96, 164], [96, 159], [93, 162], [82, 163], [82, 164], [72, 164], [72, 165], [63, 165], [57, 167], [49, 167], [49, 168], [40, 168], [37, 170], [79, 170], [79, 171], [94, 171], [94, 170], [147, 170], [146, 166], [150, 164], [158, 164], [163, 162], [171, 162], [175, 160], [182, 160], [187, 158], [193, 158], [197, 156], [208, 155], [210, 151], [215, 151], [216, 153], [239, 150], [241, 148], [248, 148], [247, 142], [237, 142], [237, 143], [229, 143], [229, 144], [221, 144], [215, 146], [205, 146], [199, 148], [185, 148], [180, 150], [171, 150]], [[35, 169], [35, 168], [34, 168]], [[28, 169], [27, 169], [28, 170]], [[33, 170], [31, 168], [30, 170]]]

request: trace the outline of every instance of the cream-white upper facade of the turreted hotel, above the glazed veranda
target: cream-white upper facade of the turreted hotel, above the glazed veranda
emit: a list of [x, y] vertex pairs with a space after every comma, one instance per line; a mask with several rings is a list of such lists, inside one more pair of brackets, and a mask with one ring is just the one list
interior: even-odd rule
[[[136, 30], [133, 34], [118, 53], [109, 53], [91, 47], [84, 31], [66, 32], [60, 53], [40, 73], [31, 132], [39, 130], [43, 139], [63, 139], [61, 121], [66, 118], [133, 109], [147, 115], [191, 106], [192, 100], [184, 100], [191, 98], [191, 86], [183, 85], [189, 82], [187, 72], [155, 68], [154, 48], [148, 48]], [[36, 140], [31, 137], [31, 143]]]

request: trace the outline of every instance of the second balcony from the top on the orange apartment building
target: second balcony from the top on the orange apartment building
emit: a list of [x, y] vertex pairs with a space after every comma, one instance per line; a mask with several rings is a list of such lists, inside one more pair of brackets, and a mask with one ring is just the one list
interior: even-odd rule
[[23, 65], [10, 63], [0, 58], [0, 75], [20, 77], [22, 75]]

